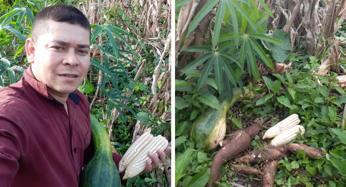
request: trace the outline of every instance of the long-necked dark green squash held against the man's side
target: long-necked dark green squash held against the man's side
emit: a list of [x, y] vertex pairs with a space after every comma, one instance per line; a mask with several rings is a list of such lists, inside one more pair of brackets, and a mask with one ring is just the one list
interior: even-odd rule
[[94, 156], [80, 174], [80, 187], [120, 187], [120, 175], [113, 161], [108, 134], [101, 123], [90, 114], [91, 140]]

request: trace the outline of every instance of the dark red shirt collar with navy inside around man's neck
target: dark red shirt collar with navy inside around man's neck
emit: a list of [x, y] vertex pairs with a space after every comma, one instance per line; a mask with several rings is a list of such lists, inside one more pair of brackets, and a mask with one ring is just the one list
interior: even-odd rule
[[[25, 80], [28, 82], [28, 84], [40, 95], [42, 95], [43, 97], [49, 99], [49, 100], [54, 100], [57, 104], [59, 105], [64, 105], [61, 102], [57, 101], [56, 99], [54, 99], [54, 97], [48, 93], [47, 91], [47, 84], [40, 82], [36, 79], [33, 70], [31, 69], [31, 65], [29, 66], [29, 68], [27, 68], [24, 73], [23, 76], [25, 78]], [[69, 98], [76, 104], [78, 105], [80, 102], [79, 97], [75, 94], [76, 90], [72, 93], [69, 94]]]

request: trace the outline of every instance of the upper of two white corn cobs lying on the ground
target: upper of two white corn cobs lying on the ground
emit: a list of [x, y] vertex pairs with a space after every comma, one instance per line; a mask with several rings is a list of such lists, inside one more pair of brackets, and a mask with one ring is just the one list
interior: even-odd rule
[[288, 130], [292, 128], [295, 125], [298, 125], [300, 123], [300, 119], [297, 114], [292, 114], [291, 116], [283, 119], [282, 121], [278, 122], [273, 127], [269, 128], [263, 136], [263, 139], [265, 138], [274, 138], [275, 136], [279, 135], [281, 132]]

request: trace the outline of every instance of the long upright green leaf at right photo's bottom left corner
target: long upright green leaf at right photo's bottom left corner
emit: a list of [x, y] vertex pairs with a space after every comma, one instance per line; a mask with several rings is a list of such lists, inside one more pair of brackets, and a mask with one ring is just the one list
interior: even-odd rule
[[175, 184], [186, 174], [186, 168], [190, 164], [192, 149], [186, 150], [175, 161]]

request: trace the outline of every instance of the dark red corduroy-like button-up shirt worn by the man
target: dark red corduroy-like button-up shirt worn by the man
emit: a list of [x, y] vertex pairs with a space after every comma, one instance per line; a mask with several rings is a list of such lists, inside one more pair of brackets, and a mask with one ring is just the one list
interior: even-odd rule
[[[66, 104], [68, 116], [31, 66], [0, 90], [0, 187], [78, 187], [93, 156], [89, 102], [77, 89]], [[117, 167], [121, 157], [113, 153]]]

